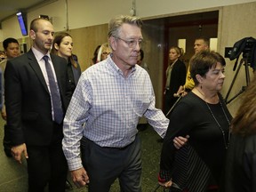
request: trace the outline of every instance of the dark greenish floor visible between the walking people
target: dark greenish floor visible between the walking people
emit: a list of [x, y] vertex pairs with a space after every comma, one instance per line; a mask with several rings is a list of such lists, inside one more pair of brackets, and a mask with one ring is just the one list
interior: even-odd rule
[[[4, 121], [0, 120], [0, 192], [26, 192], [28, 191], [28, 176], [26, 160], [22, 164], [14, 162], [10, 157], [4, 155], [3, 135]], [[156, 140], [159, 136], [148, 125], [147, 129], [139, 132], [142, 148], [142, 191], [154, 192], [157, 187], [157, 171], [159, 167], [159, 155], [161, 143]], [[87, 192], [87, 188], [76, 188], [73, 186], [74, 192]], [[119, 192], [118, 182], [116, 181], [110, 192]], [[157, 191], [163, 191], [158, 188]]]

